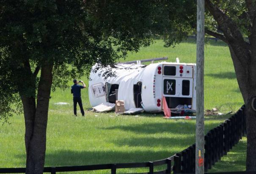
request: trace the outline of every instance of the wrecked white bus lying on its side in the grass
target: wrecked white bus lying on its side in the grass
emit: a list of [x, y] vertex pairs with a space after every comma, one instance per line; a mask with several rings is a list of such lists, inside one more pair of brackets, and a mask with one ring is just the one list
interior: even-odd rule
[[194, 63], [117, 64], [112, 71], [116, 76], [107, 79], [102, 72], [91, 72], [91, 106], [123, 100], [126, 110], [143, 107], [148, 112], [159, 112], [164, 96], [170, 109], [187, 105], [196, 110]]

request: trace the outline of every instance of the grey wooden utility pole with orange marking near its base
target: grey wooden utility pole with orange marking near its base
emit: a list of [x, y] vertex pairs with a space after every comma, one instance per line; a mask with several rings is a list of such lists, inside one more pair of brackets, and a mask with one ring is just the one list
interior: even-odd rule
[[204, 174], [204, 0], [197, 0], [195, 174]]

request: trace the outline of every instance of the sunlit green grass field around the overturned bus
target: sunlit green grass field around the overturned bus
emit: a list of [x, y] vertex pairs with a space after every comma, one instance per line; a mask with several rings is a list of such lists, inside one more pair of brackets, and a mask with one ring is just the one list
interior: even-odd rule
[[[156, 41], [127, 59], [141, 60], [167, 56], [168, 61], [195, 63], [195, 40], [187, 40], [175, 48], [163, 47]], [[122, 60], [123, 61], [123, 60]], [[88, 86], [86, 78], [82, 79]], [[228, 47], [223, 42], [211, 41], [205, 47], [205, 109], [216, 107], [220, 112], [237, 111], [242, 106], [234, 67]], [[72, 85], [72, 82], [69, 82]], [[159, 160], [174, 155], [195, 142], [195, 120], [163, 119], [162, 114], [120, 116], [114, 112], [94, 113], [88, 101], [87, 88], [82, 91], [86, 117], [73, 117], [70, 89], [52, 92], [47, 126], [45, 166], [77, 166], [102, 163], [128, 163]], [[67, 102], [69, 105], [55, 105]], [[79, 107], [77, 107], [79, 111]], [[219, 125], [230, 115], [208, 116], [205, 131]], [[10, 125], [0, 126], [0, 168], [25, 167], [25, 125], [22, 115], [10, 119]], [[216, 163], [211, 171], [240, 171], [245, 169], [246, 139], [234, 152]], [[242, 158], [238, 158], [237, 155]], [[241, 160], [243, 159], [243, 160]], [[235, 161], [235, 162], [234, 162]], [[236, 163], [231, 166], [230, 163]], [[224, 165], [225, 164], [225, 165]], [[226, 167], [228, 165], [228, 167]], [[138, 171], [147, 171], [138, 169]], [[131, 170], [118, 170], [131, 172]], [[77, 172], [86, 173], [86, 172]], [[91, 171], [88, 173], [92, 173]], [[109, 173], [96, 171], [94, 173]]]

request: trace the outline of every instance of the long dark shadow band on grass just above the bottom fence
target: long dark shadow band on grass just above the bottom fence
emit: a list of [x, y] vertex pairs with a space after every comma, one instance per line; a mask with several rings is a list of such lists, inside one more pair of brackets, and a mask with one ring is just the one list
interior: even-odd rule
[[[133, 163], [160, 160], [174, 155], [173, 150], [133, 150], [133, 151], [75, 151], [57, 150], [47, 152], [45, 157], [45, 167], [47, 166], [82, 166], [106, 163]], [[24, 159], [23, 155], [17, 158]]]

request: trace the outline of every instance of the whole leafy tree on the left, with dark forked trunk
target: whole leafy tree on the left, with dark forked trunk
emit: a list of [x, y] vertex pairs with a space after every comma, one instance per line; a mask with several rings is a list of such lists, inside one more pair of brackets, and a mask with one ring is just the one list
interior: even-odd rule
[[42, 173], [51, 90], [149, 46], [152, 36], [178, 43], [193, 7], [190, 0], [2, 0], [0, 119], [23, 110], [26, 173]]

